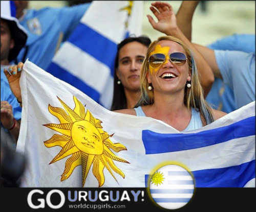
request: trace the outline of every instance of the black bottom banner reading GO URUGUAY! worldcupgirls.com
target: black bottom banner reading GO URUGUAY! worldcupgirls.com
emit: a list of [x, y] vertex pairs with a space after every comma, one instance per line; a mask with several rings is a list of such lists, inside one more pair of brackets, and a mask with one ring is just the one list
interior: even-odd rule
[[[0, 189], [3, 208], [24, 211], [166, 211], [145, 188], [5, 188]], [[177, 211], [248, 211], [255, 208], [255, 188], [196, 188], [190, 201]]]

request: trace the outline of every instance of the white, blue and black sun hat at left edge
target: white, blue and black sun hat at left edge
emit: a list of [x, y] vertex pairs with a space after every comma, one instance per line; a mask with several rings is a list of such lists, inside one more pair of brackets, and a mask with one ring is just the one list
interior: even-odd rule
[[19, 24], [16, 16], [16, 8], [13, 1], [1, 1], [1, 19], [8, 22], [11, 37], [14, 40], [14, 48], [10, 50], [8, 60], [12, 61], [17, 56], [19, 51], [26, 44], [28, 32]]

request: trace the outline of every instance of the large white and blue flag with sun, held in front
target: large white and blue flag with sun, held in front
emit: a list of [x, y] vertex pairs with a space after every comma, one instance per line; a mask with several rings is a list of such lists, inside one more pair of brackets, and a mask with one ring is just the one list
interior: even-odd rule
[[17, 151], [25, 187], [145, 187], [168, 161], [188, 167], [195, 187], [255, 186], [255, 101], [198, 130], [110, 111], [26, 61]]

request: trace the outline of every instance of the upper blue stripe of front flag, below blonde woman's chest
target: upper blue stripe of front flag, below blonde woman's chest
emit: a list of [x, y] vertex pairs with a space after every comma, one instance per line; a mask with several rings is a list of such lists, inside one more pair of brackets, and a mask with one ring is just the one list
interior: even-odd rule
[[[247, 126], [246, 130], [244, 126]], [[207, 147], [250, 135], [255, 135], [255, 116], [229, 126], [198, 133], [162, 134], [151, 130], [143, 130], [142, 141], [146, 154], [158, 154]]]

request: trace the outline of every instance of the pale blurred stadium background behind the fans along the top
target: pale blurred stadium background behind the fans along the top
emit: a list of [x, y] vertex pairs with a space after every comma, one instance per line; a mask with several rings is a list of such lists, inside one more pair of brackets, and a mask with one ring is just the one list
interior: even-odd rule
[[[30, 1], [30, 8], [62, 7], [79, 4], [77, 1]], [[152, 15], [150, 5], [154, 1], [144, 1], [142, 34], [152, 40], [163, 35], [154, 30], [146, 15]], [[182, 1], [162, 1], [170, 3], [177, 12]], [[192, 41], [207, 45], [233, 33], [255, 33], [255, 1], [201, 1], [193, 17]]]

